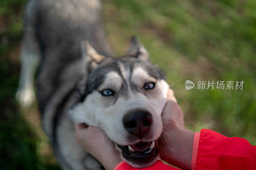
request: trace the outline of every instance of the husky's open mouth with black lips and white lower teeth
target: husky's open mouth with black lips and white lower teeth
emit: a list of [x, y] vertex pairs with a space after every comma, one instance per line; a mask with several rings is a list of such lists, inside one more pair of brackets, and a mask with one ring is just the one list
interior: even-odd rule
[[116, 144], [121, 150], [122, 155], [128, 161], [134, 164], [147, 164], [154, 162], [158, 155], [156, 141], [138, 142], [130, 145]]

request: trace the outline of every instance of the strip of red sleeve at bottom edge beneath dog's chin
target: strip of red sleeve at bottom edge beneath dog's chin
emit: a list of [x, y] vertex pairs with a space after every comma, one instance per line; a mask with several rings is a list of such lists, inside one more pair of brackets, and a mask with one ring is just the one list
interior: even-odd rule
[[[122, 161], [115, 167], [114, 170], [138, 170], [139, 168], [133, 168], [126, 162]], [[155, 164], [148, 166], [146, 168], [141, 168], [141, 170], [178, 170], [175, 167], [165, 165], [161, 160], [156, 161]]]

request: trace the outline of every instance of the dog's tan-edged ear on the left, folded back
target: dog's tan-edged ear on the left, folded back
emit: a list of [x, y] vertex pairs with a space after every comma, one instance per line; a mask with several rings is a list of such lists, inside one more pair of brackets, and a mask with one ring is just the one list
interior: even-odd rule
[[105, 59], [104, 55], [100, 55], [87, 40], [81, 41], [82, 58], [87, 69], [93, 69]]

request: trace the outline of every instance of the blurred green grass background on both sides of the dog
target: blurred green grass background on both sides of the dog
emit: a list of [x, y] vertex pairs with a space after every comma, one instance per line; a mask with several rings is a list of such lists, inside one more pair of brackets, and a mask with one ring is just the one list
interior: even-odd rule
[[[36, 103], [15, 101], [27, 0], [0, 1], [0, 169], [59, 169]], [[103, 0], [116, 54], [137, 35], [162, 68], [186, 127], [208, 128], [256, 145], [255, 0]], [[185, 90], [186, 80], [244, 81], [243, 90]]]

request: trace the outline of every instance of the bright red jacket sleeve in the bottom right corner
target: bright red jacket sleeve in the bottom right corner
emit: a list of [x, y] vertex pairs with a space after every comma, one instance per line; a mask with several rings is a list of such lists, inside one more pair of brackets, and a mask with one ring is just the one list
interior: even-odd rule
[[[246, 139], [225, 137], [212, 130], [202, 129], [198, 147], [195, 146], [195, 140], [196, 134], [193, 145], [192, 170], [256, 169], [256, 146], [252, 146]], [[195, 157], [196, 159], [193, 160]]]

